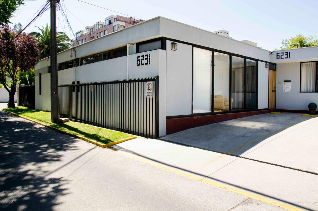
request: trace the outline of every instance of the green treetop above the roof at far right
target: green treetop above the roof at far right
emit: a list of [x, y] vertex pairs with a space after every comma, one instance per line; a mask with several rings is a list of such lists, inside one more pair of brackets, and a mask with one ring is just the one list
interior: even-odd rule
[[292, 49], [292, 48], [302, 48], [310, 46], [318, 46], [318, 39], [316, 36], [305, 37], [301, 34], [296, 35], [290, 39], [283, 39], [281, 41], [283, 46], [280, 47], [281, 50]]

